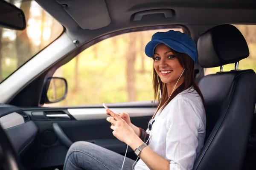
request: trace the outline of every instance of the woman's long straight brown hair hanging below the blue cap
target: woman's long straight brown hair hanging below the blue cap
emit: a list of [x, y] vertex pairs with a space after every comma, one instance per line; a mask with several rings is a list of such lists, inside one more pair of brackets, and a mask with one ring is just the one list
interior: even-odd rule
[[[163, 110], [163, 108], [166, 107], [166, 105], [168, 105], [168, 103], [175, 98], [175, 96], [177, 96], [180, 92], [193, 87], [195, 91], [197, 91], [197, 93], [199, 94], [199, 96], [202, 99], [202, 102], [204, 104], [205, 107], [205, 102], [204, 102], [204, 97], [195, 81], [194, 78], [194, 61], [192, 60], [191, 57], [189, 57], [187, 54], [185, 53], [179, 53], [173, 49], [171, 49], [172, 53], [174, 54], [174, 56], [179, 60], [180, 65], [185, 68], [185, 71], [183, 73], [183, 76], [185, 76], [184, 82], [175, 89], [175, 91], [173, 91], [172, 96], [169, 98], [168, 93], [167, 93], [167, 87], [166, 87], [166, 83], [163, 83], [162, 81], [160, 81], [159, 78], [159, 83], [160, 83], [160, 88], [162, 91], [162, 101], [160, 102], [160, 95], [159, 95], [159, 85], [158, 85], [158, 81], [157, 81], [157, 72], [154, 69], [154, 64], [153, 64], [153, 88], [154, 88], [154, 100], [160, 102], [158, 103], [158, 109], [157, 111], [159, 111], [160, 109]], [[154, 57], [153, 57], [154, 59]], [[155, 60], [155, 59], [154, 59]], [[190, 91], [191, 93], [192, 91]], [[169, 98], [169, 99], [168, 99]], [[167, 101], [168, 100], [168, 101]], [[167, 102], [166, 102], [167, 101]], [[156, 112], [157, 112], [156, 111]]]

